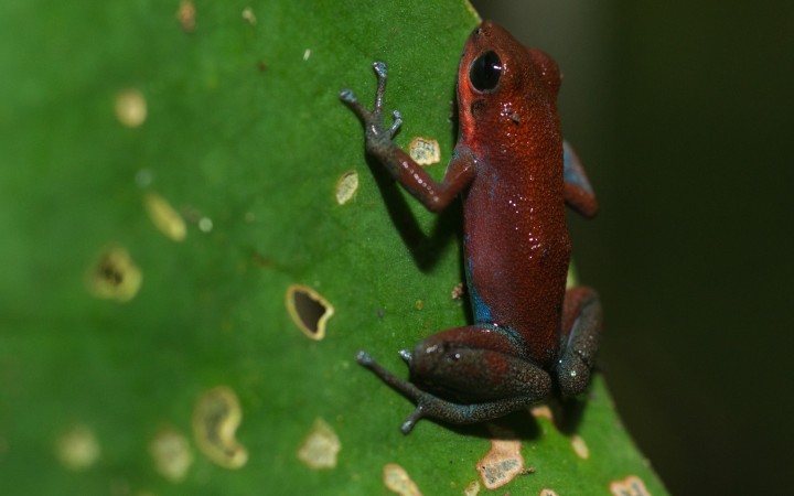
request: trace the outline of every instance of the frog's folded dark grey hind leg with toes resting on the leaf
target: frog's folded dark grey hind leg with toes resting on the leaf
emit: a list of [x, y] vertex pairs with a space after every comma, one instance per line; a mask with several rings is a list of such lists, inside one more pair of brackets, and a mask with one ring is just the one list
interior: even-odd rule
[[545, 398], [550, 376], [514, 354], [515, 336], [495, 326], [471, 325], [429, 336], [414, 353], [400, 352], [411, 381], [395, 376], [368, 354], [357, 360], [414, 401], [400, 427], [407, 434], [421, 418], [476, 423], [503, 417]]

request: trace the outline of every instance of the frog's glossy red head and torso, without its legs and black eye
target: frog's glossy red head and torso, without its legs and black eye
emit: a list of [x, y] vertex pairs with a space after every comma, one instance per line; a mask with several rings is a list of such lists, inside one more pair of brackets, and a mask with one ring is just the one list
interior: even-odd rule
[[[469, 289], [476, 320], [515, 331], [527, 356], [545, 365], [558, 346], [570, 256], [559, 74], [543, 53], [495, 25], [484, 29], [471, 57], [491, 47], [501, 63], [498, 85], [490, 93], [459, 87], [459, 147], [478, 157], [464, 200]], [[459, 78], [469, 77], [466, 56]]]

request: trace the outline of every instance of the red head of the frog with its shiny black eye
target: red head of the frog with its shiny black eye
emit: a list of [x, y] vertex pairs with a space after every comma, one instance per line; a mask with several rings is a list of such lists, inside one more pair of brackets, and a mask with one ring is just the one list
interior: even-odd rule
[[551, 57], [525, 47], [497, 24], [483, 22], [469, 36], [458, 71], [463, 139], [481, 137], [483, 128], [519, 123], [532, 117], [536, 104], [556, 105], [560, 82]]

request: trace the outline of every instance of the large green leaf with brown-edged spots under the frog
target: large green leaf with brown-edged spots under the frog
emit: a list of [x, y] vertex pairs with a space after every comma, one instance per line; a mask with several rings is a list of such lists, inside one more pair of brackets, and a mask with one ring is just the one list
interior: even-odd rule
[[[393, 463], [425, 494], [480, 479], [489, 430], [404, 436], [411, 405], [355, 365], [400, 371], [398, 349], [465, 322], [460, 208], [371, 171], [339, 101], [368, 100], [386, 61], [397, 141], [436, 139], [444, 163], [476, 22], [451, 0], [0, 6], [0, 493], [372, 495]], [[299, 309], [333, 306], [322, 339], [290, 316], [294, 284]], [[206, 449], [224, 434], [194, 417], [212, 431], [235, 401], [236, 441]], [[600, 377], [583, 405], [587, 459], [545, 418], [503, 424], [535, 468], [505, 490], [664, 494]], [[334, 467], [299, 457], [313, 430]]]

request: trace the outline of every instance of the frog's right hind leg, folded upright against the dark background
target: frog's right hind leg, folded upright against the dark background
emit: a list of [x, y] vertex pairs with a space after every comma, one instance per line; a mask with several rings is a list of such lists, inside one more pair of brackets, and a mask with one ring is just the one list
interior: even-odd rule
[[562, 333], [556, 364], [557, 385], [562, 397], [584, 391], [601, 335], [601, 302], [598, 293], [583, 285], [566, 292]]

